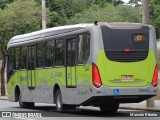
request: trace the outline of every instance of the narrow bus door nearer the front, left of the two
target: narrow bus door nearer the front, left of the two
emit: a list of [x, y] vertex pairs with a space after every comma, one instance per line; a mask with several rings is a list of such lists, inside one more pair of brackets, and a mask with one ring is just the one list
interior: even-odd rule
[[28, 47], [28, 60], [27, 60], [27, 76], [28, 76], [28, 88], [34, 89], [35, 82], [35, 46]]

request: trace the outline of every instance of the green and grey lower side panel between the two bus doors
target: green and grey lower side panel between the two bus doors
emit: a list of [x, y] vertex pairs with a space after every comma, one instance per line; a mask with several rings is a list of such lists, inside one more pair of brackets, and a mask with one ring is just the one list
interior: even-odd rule
[[34, 102], [53, 103], [53, 87], [56, 83], [60, 87], [66, 86], [65, 78], [65, 68], [35, 70], [36, 87], [32, 90]]

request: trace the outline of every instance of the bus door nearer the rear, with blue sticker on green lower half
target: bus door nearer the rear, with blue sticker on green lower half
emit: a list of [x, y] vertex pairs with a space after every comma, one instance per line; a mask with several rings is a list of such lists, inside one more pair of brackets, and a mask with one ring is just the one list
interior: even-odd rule
[[66, 84], [67, 87], [76, 87], [76, 38], [68, 39], [66, 45]]

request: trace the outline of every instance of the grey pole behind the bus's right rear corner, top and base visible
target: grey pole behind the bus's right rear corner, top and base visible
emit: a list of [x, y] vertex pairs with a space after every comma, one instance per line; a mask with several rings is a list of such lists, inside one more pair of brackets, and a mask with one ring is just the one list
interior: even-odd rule
[[[149, 0], [143, 0], [143, 24], [149, 24], [149, 5], [148, 5], [148, 1]], [[154, 107], [155, 103], [154, 103], [154, 98], [150, 98], [148, 100], [146, 100], [146, 106], [147, 107]]]

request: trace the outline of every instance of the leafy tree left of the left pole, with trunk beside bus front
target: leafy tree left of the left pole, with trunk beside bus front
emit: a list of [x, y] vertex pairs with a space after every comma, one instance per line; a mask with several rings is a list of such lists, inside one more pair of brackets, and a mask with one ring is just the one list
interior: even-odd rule
[[[3, 58], [9, 39], [18, 34], [24, 34], [41, 29], [41, 6], [34, 0], [15, 0], [0, 10], [0, 36]], [[5, 95], [4, 66], [1, 67], [1, 95]]]

